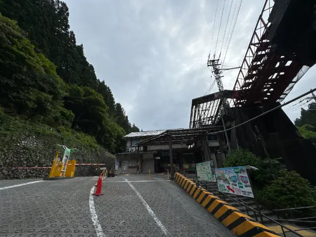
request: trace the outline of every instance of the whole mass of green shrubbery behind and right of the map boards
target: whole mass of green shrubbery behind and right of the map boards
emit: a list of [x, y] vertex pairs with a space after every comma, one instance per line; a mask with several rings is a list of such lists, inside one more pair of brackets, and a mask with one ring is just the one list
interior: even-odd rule
[[260, 202], [272, 203], [272, 208], [316, 205], [316, 196], [308, 180], [295, 171], [288, 171], [279, 159], [262, 159], [248, 150], [239, 149], [228, 155], [224, 165], [251, 165], [258, 168], [248, 171], [252, 179], [252, 189], [260, 197]]

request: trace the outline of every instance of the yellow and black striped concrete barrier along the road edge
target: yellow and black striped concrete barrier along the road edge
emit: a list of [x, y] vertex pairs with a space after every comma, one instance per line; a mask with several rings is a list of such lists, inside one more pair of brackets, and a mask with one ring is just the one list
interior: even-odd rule
[[197, 187], [195, 182], [178, 172], [175, 173], [175, 181], [235, 235], [242, 237], [279, 237], [265, 225], [241, 213], [236, 207], [230, 206], [226, 201], [207, 190]]

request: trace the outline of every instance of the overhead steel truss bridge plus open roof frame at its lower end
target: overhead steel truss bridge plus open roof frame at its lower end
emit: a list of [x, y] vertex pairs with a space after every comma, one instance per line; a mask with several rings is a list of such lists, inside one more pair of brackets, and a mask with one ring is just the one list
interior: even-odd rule
[[[316, 63], [316, 0], [265, 0], [233, 90], [235, 107], [281, 102]], [[190, 128], [215, 124], [220, 93], [192, 100]]]

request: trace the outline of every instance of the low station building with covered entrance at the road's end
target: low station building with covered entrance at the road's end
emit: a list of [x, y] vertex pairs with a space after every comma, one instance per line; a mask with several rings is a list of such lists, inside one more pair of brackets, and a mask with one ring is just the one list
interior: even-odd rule
[[[141, 131], [127, 134], [126, 151], [116, 154], [117, 174], [171, 172], [181, 169], [196, 172], [196, 163], [212, 160], [215, 167], [222, 167], [225, 159], [225, 142], [217, 135], [221, 126], [195, 129], [169, 129]], [[171, 149], [170, 149], [171, 148]]]

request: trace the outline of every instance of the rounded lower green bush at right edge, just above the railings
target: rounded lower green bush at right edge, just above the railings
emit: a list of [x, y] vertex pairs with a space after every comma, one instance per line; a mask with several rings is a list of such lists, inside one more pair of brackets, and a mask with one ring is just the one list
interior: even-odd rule
[[276, 208], [294, 208], [316, 205], [313, 189], [308, 180], [295, 171], [282, 171], [258, 196], [273, 203]]

